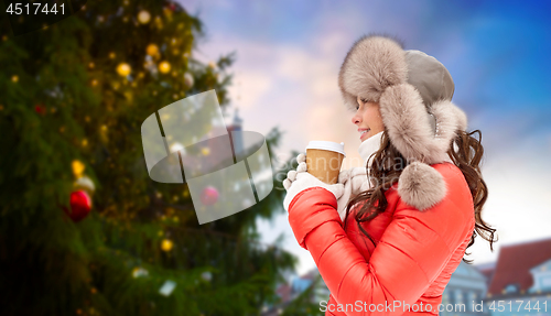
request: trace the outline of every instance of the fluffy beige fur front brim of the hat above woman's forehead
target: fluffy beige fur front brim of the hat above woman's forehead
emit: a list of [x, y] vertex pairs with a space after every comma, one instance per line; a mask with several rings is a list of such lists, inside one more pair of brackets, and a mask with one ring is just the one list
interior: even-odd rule
[[388, 37], [365, 35], [348, 51], [338, 74], [338, 86], [347, 106], [355, 109], [357, 96], [378, 102], [387, 87], [407, 79], [402, 46]]

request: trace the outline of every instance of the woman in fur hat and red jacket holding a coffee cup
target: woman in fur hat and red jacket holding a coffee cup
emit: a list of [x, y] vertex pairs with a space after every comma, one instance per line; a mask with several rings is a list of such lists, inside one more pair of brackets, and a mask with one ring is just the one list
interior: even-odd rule
[[437, 315], [475, 237], [490, 249], [497, 241], [480, 217], [483, 146], [472, 137], [480, 133], [465, 132], [447, 69], [392, 39], [359, 39], [338, 84], [356, 110], [366, 167], [342, 172], [338, 184], [327, 185], [305, 172], [301, 154], [283, 182], [289, 222], [331, 291], [321, 310]]

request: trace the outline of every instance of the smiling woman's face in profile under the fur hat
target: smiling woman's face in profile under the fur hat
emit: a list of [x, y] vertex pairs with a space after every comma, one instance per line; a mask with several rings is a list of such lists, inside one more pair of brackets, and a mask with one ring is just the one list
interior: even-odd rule
[[380, 116], [379, 103], [367, 102], [359, 97], [356, 100], [358, 101], [358, 106], [356, 107], [356, 115], [352, 118], [352, 122], [358, 126], [359, 140], [365, 141], [382, 132], [385, 124]]

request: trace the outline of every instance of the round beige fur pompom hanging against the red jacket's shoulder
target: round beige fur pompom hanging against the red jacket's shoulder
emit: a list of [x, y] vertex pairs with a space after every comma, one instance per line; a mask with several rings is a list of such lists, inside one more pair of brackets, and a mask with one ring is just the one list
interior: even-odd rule
[[403, 201], [419, 210], [425, 210], [446, 195], [447, 188], [442, 175], [421, 162], [409, 164], [398, 179], [398, 194]]

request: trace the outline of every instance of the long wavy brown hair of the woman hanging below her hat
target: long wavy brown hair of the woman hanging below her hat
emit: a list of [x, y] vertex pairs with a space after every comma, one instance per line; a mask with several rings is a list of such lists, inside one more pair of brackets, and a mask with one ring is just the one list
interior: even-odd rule
[[[474, 134], [478, 134], [478, 139], [474, 138]], [[489, 227], [482, 219], [483, 206], [488, 197], [488, 187], [486, 186], [480, 173], [480, 161], [484, 154], [480, 131], [475, 130], [469, 133], [458, 131], [450, 145], [447, 154], [452, 162], [465, 176], [468, 188], [471, 189], [471, 195], [473, 196], [476, 222], [467, 248], [473, 246], [477, 236], [480, 236], [483, 239], [489, 241], [489, 247], [493, 251], [493, 243], [497, 242], [497, 236], [494, 238], [496, 229]], [[360, 224], [364, 221], [370, 221], [387, 209], [388, 201], [385, 196], [385, 192], [398, 182], [398, 178], [408, 162], [390, 142], [387, 131], [382, 133], [381, 146], [379, 151], [374, 153], [370, 159], [372, 159], [372, 167], [368, 170], [368, 175], [369, 181], [371, 182], [371, 188], [358, 194], [348, 203], [346, 208], [345, 227], [350, 208], [357, 203], [365, 201], [361, 208], [356, 213], [356, 225], [361, 232], [369, 238], [369, 240], [371, 240], [374, 246], [376, 246], [374, 239], [369, 236], [369, 233], [367, 233]], [[471, 253], [467, 253], [467, 255], [468, 254]], [[463, 259], [463, 261], [472, 263], [472, 260]]]

